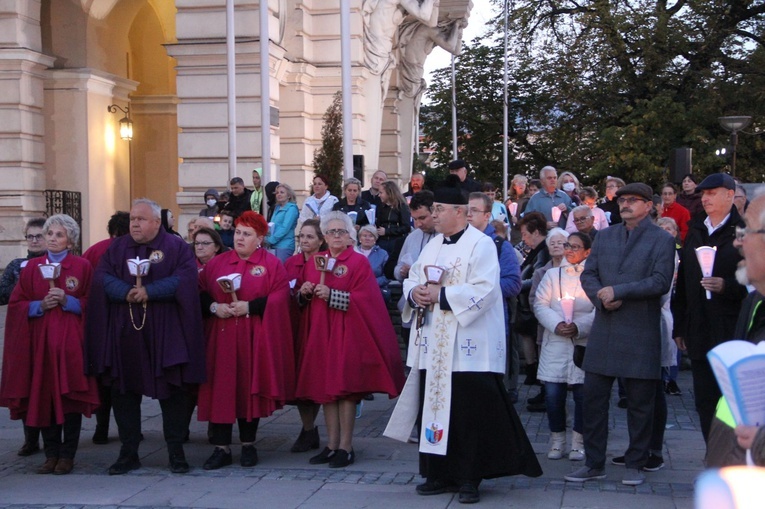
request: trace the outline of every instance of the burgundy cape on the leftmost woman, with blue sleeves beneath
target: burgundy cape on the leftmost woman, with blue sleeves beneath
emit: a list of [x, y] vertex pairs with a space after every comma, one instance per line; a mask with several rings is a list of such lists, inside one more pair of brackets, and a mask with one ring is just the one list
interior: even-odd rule
[[[99, 405], [95, 380], [85, 376], [82, 315], [56, 306], [29, 317], [30, 303], [50, 289], [37, 268], [45, 261], [45, 256], [29, 260], [11, 294], [0, 381], [0, 405], [11, 410], [11, 419], [24, 418], [39, 428], [62, 424], [68, 413], [90, 417]], [[56, 279], [57, 287], [79, 299], [83, 313], [92, 275], [87, 260], [67, 255]]]

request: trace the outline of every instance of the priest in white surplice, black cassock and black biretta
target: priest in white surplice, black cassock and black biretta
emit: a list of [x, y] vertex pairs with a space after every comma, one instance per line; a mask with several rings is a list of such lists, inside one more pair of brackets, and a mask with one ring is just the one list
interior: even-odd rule
[[[450, 177], [452, 178], [452, 177]], [[454, 182], [437, 189], [436, 231], [404, 281], [403, 319], [414, 317], [412, 368], [385, 435], [406, 441], [420, 429], [420, 495], [459, 492], [479, 500], [482, 479], [542, 475], [502, 384], [505, 323], [497, 249], [467, 223]]]

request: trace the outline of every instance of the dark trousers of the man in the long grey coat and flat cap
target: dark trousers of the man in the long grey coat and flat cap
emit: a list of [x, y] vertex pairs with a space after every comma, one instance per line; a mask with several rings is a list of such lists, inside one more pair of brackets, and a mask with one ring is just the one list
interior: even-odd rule
[[[615, 377], [585, 372], [584, 375], [584, 450], [586, 464], [602, 469], [608, 445], [608, 409]], [[630, 442], [625, 453], [627, 468], [643, 468], [653, 431], [656, 385], [661, 380], [623, 378], [627, 394], [627, 431]]]

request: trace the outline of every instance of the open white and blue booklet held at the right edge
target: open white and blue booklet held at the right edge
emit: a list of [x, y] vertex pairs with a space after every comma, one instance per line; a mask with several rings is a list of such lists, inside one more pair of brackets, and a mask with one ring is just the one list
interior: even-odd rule
[[736, 424], [765, 424], [765, 341], [726, 341], [707, 358]]

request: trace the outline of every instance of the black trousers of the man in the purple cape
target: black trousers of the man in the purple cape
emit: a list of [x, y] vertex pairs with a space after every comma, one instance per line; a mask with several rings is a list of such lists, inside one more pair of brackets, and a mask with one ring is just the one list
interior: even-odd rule
[[[112, 409], [117, 421], [122, 451], [120, 455], [138, 453], [141, 442], [141, 394], [121, 394], [115, 384], [112, 387]], [[188, 395], [179, 389], [169, 398], [159, 400], [162, 408], [162, 431], [167, 450], [172, 454], [183, 452], [183, 441], [188, 430]]]

